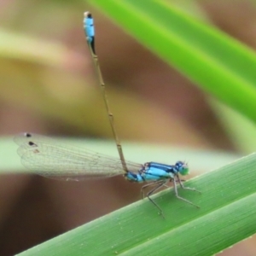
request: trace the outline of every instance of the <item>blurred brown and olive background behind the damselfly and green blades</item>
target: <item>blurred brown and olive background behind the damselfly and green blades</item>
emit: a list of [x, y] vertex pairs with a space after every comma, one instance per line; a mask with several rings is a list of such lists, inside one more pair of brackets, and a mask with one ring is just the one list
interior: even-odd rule
[[[178, 3], [202, 22], [256, 46], [254, 1]], [[163, 151], [176, 152], [170, 161], [189, 160], [195, 175], [212, 170], [212, 155], [230, 160], [255, 149], [254, 125], [210, 100], [90, 3], [3, 0], [0, 7], [2, 166], [3, 160], [20, 164], [11, 138], [22, 131], [87, 138], [85, 147], [117, 156], [84, 40], [85, 10], [95, 18], [97, 54], [127, 159], [160, 161]], [[123, 177], [61, 183], [17, 174], [15, 165], [1, 169], [1, 255], [19, 253], [139, 199], [140, 185]], [[254, 240], [223, 254], [255, 255]]]

